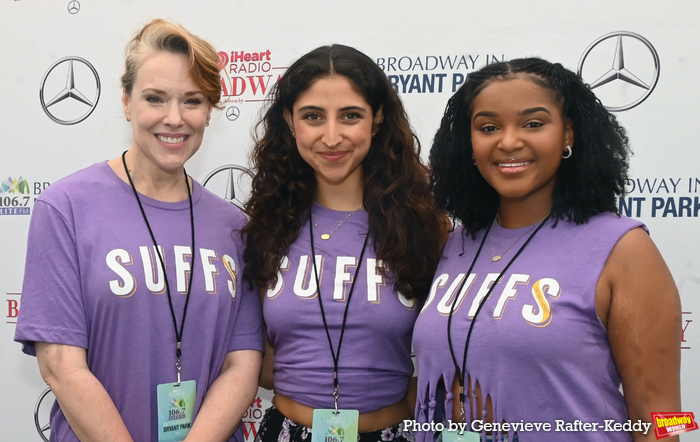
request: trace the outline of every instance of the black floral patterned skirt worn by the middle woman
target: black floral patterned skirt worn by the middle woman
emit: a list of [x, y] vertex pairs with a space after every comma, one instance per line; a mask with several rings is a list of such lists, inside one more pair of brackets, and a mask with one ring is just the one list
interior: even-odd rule
[[[357, 435], [358, 442], [415, 442], [413, 432], [403, 429], [403, 422], [383, 430]], [[255, 442], [311, 442], [311, 428], [287, 419], [273, 405], [260, 422]]]

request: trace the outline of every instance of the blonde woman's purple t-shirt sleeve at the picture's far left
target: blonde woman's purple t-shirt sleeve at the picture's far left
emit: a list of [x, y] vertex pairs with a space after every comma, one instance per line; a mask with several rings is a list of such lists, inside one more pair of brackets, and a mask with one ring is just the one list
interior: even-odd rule
[[75, 232], [39, 200], [29, 224], [27, 261], [15, 341], [36, 356], [34, 342], [88, 347]]

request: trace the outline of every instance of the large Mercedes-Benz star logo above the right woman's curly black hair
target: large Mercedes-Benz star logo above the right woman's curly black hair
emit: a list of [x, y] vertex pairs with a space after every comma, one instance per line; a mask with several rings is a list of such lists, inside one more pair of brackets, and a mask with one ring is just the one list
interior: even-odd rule
[[[611, 65], [612, 56], [612, 65]], [[659, 81], [659, 54], [634, 32], [603, 35], [586, 48], [578, 74], [611, 112], [621, 112], [646, 100]]]

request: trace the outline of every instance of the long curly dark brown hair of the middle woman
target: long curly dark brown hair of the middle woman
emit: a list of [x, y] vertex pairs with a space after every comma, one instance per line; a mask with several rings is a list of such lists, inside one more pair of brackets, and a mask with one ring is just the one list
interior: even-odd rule
[[284, 111], [292, 113], [297, 98], [329, 76], [348, 79], [373, 115], [382, 110], [384, 119], [362, 161], [369, 234], [377, 259], [394, 274], [395, 289], [422, 301], [440, 258], [446, 218], [435, 209], [420, 143], [399, 96], [369, 57], [343, 45], [319, 47], [292, 64], [255, 127], [243, 279], [261, 288], [274, 285], [282, 258], [308, 220], [316, 177], [299, 155]]

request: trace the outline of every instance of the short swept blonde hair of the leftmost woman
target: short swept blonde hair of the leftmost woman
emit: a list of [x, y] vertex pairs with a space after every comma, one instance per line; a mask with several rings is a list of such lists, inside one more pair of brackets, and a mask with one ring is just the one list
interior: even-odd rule
[[131, 95], [143, 59], [158, 51], [186, 55], [190, 62], [192, 81], [204, 92], [209, 104], [221, 108], [221, 76], [216, 50], [209, 42], [182, 26], [162, 19], [155, 19], [144, 26], [126, 47], [125, 70], [121, 81], [127, 95]]

